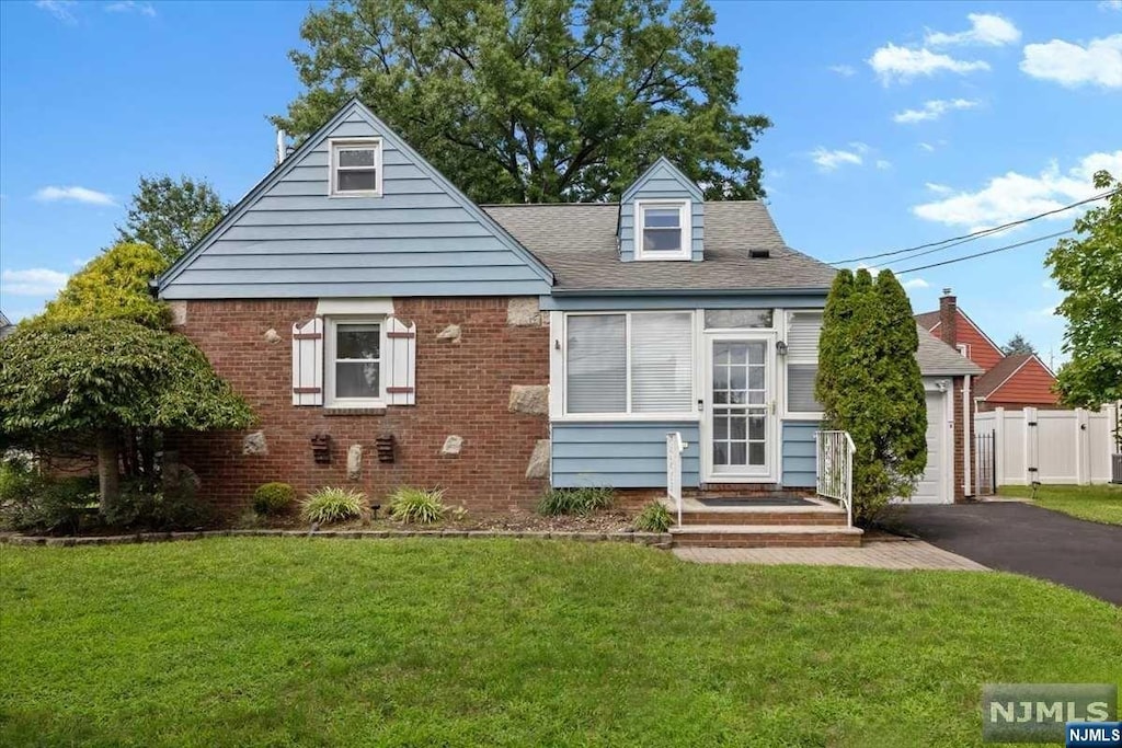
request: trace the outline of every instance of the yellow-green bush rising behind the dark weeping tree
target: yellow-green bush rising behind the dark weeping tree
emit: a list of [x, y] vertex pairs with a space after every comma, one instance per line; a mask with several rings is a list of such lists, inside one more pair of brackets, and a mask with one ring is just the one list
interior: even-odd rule
[[71, 276], [45, 314], [56, 322], [130, 320], [166, 327], [167, 305], [148, 289], [148, 281], [166, 267], [167, 259], [148, 244], [116, 244]]

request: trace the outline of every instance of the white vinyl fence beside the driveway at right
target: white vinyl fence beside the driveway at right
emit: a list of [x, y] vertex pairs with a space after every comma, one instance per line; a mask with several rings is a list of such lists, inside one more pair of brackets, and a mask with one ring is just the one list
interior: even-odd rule
[[[1111, 455], [1119, 451], [1119, 406], [1084, 410], [1005, 410], [974, 414], [974, 432], [992, 434], [997, 486], [1107, 483]], [[977, 451], [976, 474], [985, 455]]]

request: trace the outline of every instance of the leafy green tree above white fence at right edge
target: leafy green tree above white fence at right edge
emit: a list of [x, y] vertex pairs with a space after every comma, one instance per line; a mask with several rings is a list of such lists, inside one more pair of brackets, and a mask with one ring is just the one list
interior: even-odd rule
[[1097, 408], [1122, 400], [1122, 183], [1095, 174], [1097, 190], [1112, 190], [1105, 205], [1075, 221], [1077, 239], [1060, 239], [1045, 260], [1066, 295], [1064, 350], [1072, 360], [1057, 376], [1065, 404]]

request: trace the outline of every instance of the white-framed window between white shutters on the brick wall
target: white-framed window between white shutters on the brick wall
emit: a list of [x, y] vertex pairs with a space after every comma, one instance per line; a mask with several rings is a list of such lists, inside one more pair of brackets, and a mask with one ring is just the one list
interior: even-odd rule
[[362, 407], [384, 403], [381, 327], [381, 320], [329, 320], [329, 405]]

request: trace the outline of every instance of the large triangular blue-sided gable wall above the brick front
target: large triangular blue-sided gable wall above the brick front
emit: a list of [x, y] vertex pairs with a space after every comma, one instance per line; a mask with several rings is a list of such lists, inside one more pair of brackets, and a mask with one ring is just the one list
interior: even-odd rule
[[[329, 197], [329, 138], [383, 139], [383, 195]], [[361, 104], [344, 108], [162, 278], [165, 298], [504, 296], [549, 271]]]

